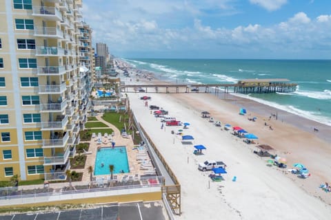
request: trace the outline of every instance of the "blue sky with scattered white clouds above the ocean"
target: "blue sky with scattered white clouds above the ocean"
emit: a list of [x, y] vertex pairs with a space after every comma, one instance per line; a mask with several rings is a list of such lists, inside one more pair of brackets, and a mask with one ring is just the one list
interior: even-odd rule
[[331, 0], [83, 0], [121, 58], [331, 59]]

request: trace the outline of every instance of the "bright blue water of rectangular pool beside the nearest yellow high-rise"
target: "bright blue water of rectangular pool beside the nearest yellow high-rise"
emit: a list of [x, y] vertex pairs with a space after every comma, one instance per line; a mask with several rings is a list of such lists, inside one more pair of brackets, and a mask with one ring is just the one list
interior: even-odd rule
[[[103, 166], [102, 166], [103, 164]], [[129, 173], [128, 155], [125, 146], [106, 147], [97, 151], [94, 164], [94, 175], [110, 175], [109, 165], [114, 165], [113, 173]]]

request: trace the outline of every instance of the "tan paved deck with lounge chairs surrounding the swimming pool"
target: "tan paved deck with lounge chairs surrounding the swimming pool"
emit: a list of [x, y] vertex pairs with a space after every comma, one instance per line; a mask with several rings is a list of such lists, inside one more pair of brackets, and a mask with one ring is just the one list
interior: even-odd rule
[[[101, 144], [97, 143], [98, 137], [91, 138], [91, 140], [88, 141], [90, 143], [90, 148], [88, 149], [90, 154], [86, 154], [87, 158], [86, 158], [85, 168], [74, 169], [74, 170], [76, 170], [76, 172], [83, 173], [82, 181], [90, 181], [90, 173], [88, 173], [88, 167], [92, 166], [94, 169], [95, 157], [97, 156], [98, 147], [101, 147], [101, 148], [110, 147], [110, 146], [112, 146], [112, 142], [115, 142], [115, 147], [116, 146], [126, 146], [126, 152], [128, 155], [128, 164], [129, 164], [130, 173], [116, 174], [119, 177], [119, 179], [121, 179], [121, 177], [123, 177], [123, 175], [141, 176], [141, 175], [146, 174], [146, 170], [142, 170], [141, 166], [139, 164], [139, 161], [137, 161], [138, 151], [133, 149], [134, 144], [133, 144], [131, 135], [128, 135], [128, 137], [122, 137], [119, 129], [117, 129], [116, 126], [110, 124], [109, 122], [106, 122], [105, 120], [103, 120], [101, 118], [101, 115], [97, 115], [96, 118], [100, 122], [107, 124], [107, 126], [114, 131], [114, 135], [112, 136], [111, 134], [108, 134], [108, 137], [102, 137], [103, 141]], [[103, 129], [104, 129], [104, 127], [103, 127]], [[96, 135], [97, 135], [97, 133], [96, 133]], [[97, 175], [97, 176], [93, 175], [94, 179], [102, 178], [102, 177], [104, 179], [107, 179], [108, 176], [110, 176], [110, 175]]]

